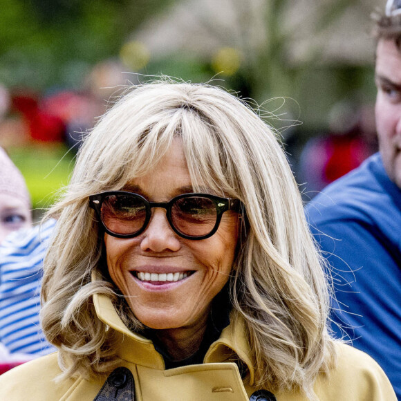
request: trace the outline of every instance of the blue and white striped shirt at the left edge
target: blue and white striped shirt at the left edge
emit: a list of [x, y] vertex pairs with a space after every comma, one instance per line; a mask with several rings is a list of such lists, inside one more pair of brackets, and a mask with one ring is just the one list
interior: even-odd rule
[[10, 353], [55, 351], [39, 326], [42, 264], [55, 220], [10, 234], [0, 245], [0, 342]]

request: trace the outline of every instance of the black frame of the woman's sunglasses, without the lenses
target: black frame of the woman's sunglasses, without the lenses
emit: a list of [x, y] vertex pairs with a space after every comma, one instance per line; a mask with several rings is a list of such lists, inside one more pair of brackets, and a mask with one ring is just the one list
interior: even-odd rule
[[[102, 204], [104, 202], [104, 199], [106, 196], [113, 196], [113, 195], [124, 195], [124, 196], [130, 196], [133, 198], [139, 198], [145, 206], [146, 210], [146, 217], [144, 219], [143, 226], [140, 230], [137, 232], [134, 232], [133, 234], [118, 234], [116, 232], [113, 232], [109, 230], [106, 225], [104, 225], [102, 221]], [[216, 223], [213, 227], [213, 230], [209, 232], [208, 234], [205, 234], [203, 236], [189, 236], [187, 234], [184, 234], [183, 232], [180, 232], [173, 224], [172, 218], [171, 218], [171, 208], [173, 207], [174, 203], [178, 201], [179, 199], [182, 198], [191, 198], [194, 196], [201, 196], [202, 198], [208, 198], [211, 201], [213, 201], [215, 207], [216, 207]], [[241, 208], [241, 201], [239, 199], [235, 198], [223, 198], [221, 196], [215, 196], [215, 195], [210, 195], [210, 194], [200, 194], [200, 193], [190, 193], [190, 194], [182, 194], [178, 195], [174, 198], [171, 199], [169, 202], [149, 202], [147, 201], [146, 198], [139, 194], [134, 194], [133, 192], [126, 192], [126, 191], [110, 191], [110, 192], [101, 192], [100, 194], [94, 194], [89, 196], [89, 206], [95, 210], [97, 217], [102, 225], [102, 228], [104, 232], [111, 236], [115, 236], [116, 238], [133, 238], [135, 236], [138, 236], [146, 230], [147, 226], [149, 225], [149, 221], [151, 219], [151, 209], [153, 207], [162, 207], [163, 209], [166, 209], [166, 216], [167, 216], [167, 221], [169, 222], [169, 225], [171, 229], [181, 236], [184, 239], [192, 239], [192, 240], [201, 240], [201, 239], [207, 239], [209, 236], [212, 236], [217, 230], [218, 226], [220, 225], [221, 222], [221, 217], [223, 216], [224, 212], [227, 212], [227, 210], [232, 210], [234, 212], [239, 212]]]

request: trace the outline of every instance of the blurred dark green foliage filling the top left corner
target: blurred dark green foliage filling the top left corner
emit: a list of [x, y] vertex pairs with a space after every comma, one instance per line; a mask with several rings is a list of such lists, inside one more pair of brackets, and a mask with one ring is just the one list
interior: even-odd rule
[[0, 77], [6, 86], [79, 86], [93, 64], [117, 57], [149, 15], [172, 0], [0, 0]]

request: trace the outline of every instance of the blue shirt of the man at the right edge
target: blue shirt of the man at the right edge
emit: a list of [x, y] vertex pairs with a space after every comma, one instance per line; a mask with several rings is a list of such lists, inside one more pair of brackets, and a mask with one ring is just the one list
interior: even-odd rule
[[401, 400], [401, 190], [380, 153], [328, 185], [306, 216], [331, 266], [335, 336], [379, 362]]

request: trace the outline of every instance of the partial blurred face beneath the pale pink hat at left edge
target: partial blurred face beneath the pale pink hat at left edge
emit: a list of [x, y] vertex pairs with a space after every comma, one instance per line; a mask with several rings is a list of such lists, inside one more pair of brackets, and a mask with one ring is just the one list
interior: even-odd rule
[[32, 223], [30, 208], [19, 198], [10, 194], [0, 194], [0, 243], [20, 228], [28, 228]]

